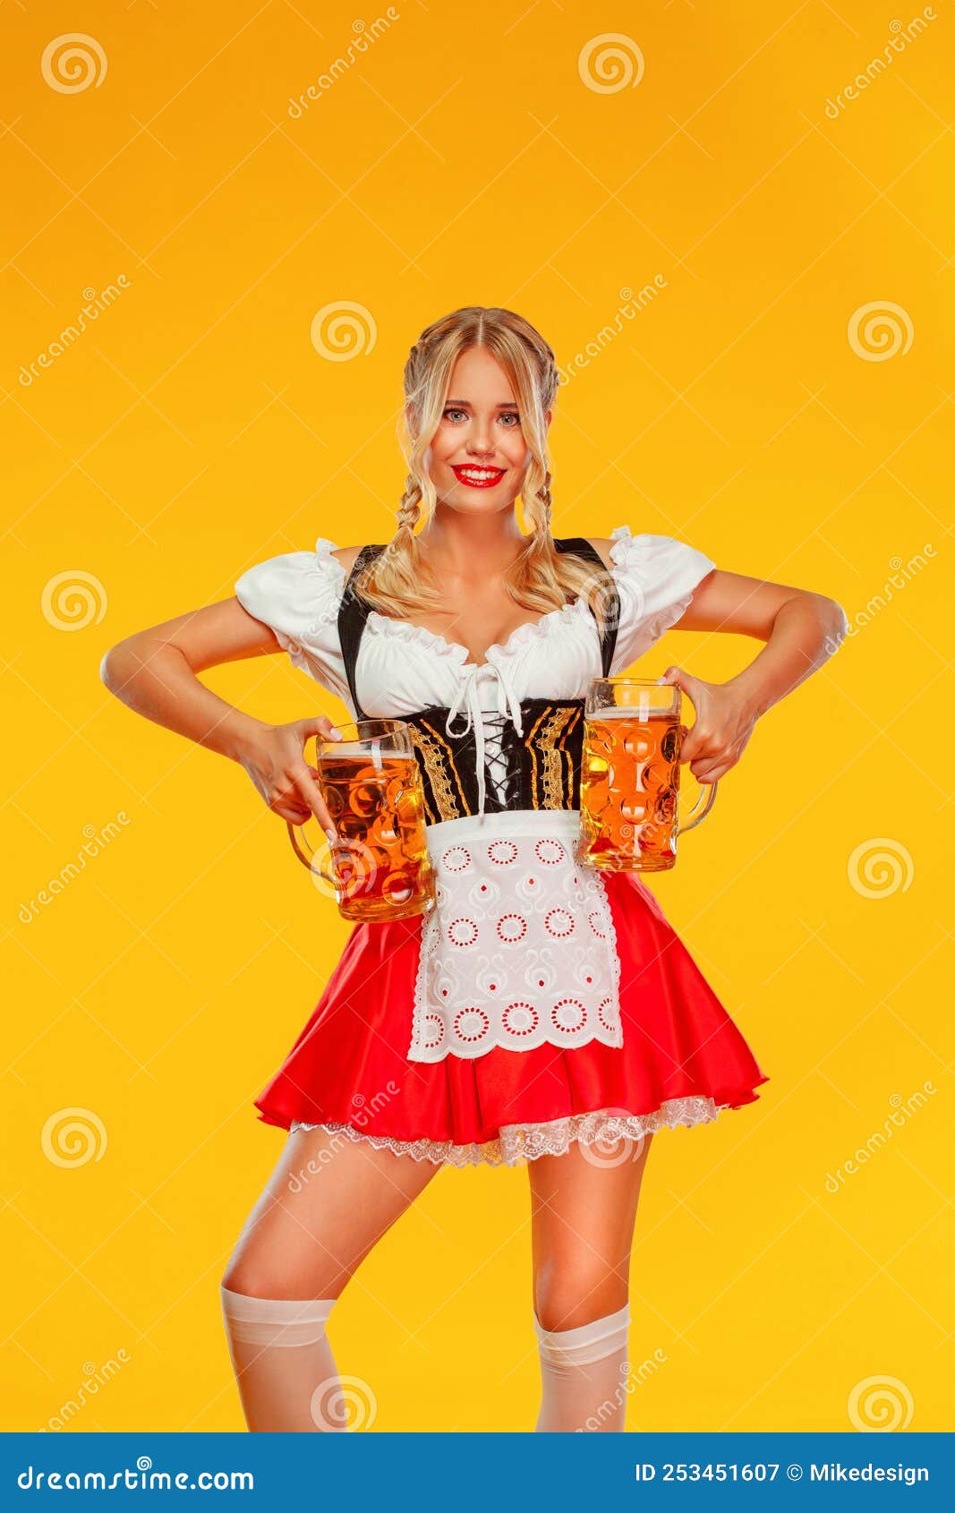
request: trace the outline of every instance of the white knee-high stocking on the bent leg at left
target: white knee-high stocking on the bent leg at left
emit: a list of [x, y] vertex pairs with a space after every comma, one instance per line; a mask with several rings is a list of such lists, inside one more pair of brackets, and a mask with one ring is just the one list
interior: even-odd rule
[[257, 1433], [347, 1430], [325, 1324], [334, 1298], [251, 1298], [222, 1286], [242, 1410]]

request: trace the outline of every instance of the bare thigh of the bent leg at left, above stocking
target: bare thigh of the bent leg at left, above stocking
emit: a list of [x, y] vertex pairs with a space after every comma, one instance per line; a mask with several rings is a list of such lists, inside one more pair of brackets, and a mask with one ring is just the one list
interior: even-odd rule
[[440, 1171], [325, 1130], [295, 1130], [222, 1282], [263, 1298], [338, 1298], [377, 1239]]

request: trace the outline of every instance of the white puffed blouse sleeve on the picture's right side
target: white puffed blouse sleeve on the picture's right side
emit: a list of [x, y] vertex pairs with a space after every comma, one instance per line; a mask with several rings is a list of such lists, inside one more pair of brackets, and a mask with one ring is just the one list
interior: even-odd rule
[[693, 589], [716, 563], [672, 536], [631, 536], [619, 525], [610, 533], [611, 573], [621, 596], [621, 619], [610, 672], [630, 667], [675, 625]]

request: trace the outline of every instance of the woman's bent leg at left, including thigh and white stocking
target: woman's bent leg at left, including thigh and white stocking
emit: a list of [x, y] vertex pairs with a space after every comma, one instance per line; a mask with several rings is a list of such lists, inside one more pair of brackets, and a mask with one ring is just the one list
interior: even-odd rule
[[250, 1430], [348, 1427], [325, 1321], [375, 1241], [439, 1170], [347, 1135], [288, 1138], [222, 1277]]

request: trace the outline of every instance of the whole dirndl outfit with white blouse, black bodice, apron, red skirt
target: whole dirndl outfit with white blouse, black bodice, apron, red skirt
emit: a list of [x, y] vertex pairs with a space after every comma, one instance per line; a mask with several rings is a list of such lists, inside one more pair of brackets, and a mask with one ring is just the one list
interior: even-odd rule
[[[586, 599], [468, 649], [360, 595], [319, 537], [244, 572], [235, 593], [353, 719], [409, 723], [436, 905], [356, 923], [312, 1014], [254, 1100], [419, 1160], [515, 1165], [711, 1121], [769, 1080], [637, 873], [577, 865], [583, 704], [630, 669], [714, 567], [666, 536], [611, 533], [601, 637]], [[359, 699], [360, 693], [360, 699]]]

